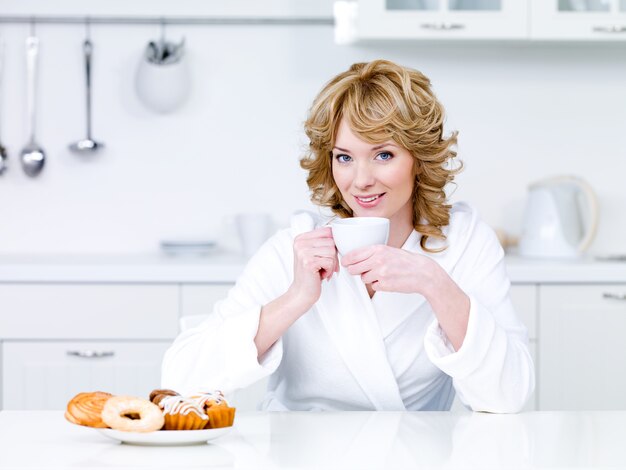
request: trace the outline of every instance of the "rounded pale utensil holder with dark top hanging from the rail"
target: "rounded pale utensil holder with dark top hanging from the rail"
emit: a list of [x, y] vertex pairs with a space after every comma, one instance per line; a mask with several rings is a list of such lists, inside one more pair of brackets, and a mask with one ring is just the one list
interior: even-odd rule
[[169, 113], [186, 101], [189, 88], [185, 38], [179, 43], [168, 41], [162, 24], [161, 38], [148, 43], [139, 61], [135, 75], [137, 96], [149, 109]]

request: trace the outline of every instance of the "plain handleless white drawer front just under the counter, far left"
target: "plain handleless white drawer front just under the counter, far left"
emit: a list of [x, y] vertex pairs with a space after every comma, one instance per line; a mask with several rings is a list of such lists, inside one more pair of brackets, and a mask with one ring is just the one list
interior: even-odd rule
[[4, 339], [165, 339], [178, 331], [178, 285], [0, 284]]

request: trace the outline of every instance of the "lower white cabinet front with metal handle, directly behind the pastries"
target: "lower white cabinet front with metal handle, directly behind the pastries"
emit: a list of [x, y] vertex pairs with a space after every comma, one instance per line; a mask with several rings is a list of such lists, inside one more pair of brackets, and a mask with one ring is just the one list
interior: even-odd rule
[[79, 392], [148, 397], [170, 342], [4, 342], [3, 408], [64, 409]]

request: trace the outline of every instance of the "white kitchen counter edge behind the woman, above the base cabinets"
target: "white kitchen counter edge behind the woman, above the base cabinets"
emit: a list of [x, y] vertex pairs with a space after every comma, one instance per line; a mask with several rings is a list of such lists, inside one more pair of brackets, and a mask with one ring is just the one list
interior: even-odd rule
[[[0, 282], [233, 283], [246, 258], [192, 255], [0, 256]], [[626, 262], [532, 260], [507, 256], [513, 283], [626, 283]]]

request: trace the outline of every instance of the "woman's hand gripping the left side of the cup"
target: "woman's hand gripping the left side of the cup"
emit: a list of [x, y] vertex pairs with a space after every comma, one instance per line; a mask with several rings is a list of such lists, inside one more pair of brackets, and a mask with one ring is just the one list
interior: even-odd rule
[[322, 281], [339, 271], [330, 227], [298, 235], [293, 242], [293, 259], [293, 283], [289, 290], [306, 311], [320, 298]]

